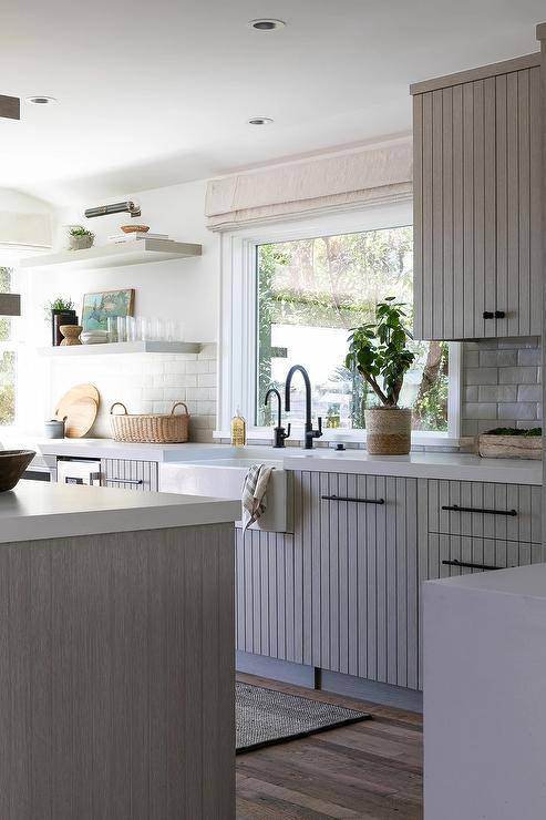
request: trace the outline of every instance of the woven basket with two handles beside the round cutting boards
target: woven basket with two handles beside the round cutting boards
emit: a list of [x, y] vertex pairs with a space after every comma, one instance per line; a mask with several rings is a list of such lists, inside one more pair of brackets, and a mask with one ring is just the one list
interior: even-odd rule
[[[115, 407], [122, 407], [123, 414], [114, 413]], [[177, 407], [183, 407], [186, 412], [176, 414]], [[110, 408], [110, 428], [114, 441], [125, 441], [134, 444], [179, 444], [188, 440], [189, 413], [183, 401], [173, 404], [168, 416], [128, 413], [125, 404], [116, 401]]]

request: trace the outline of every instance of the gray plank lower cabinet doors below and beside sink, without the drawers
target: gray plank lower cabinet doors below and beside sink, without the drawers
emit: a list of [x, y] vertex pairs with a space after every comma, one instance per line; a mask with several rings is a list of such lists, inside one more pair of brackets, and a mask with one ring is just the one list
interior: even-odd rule
[[418, 688], [416, 480], [297, 472], [293, 515], [237, 532], [237, 648]]

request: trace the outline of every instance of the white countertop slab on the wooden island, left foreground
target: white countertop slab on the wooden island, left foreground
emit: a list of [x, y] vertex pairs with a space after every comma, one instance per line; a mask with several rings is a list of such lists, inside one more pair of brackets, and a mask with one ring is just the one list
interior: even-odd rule
[[240, 502], [20, 481], [0, 493], [0, 543], [235, 522]]

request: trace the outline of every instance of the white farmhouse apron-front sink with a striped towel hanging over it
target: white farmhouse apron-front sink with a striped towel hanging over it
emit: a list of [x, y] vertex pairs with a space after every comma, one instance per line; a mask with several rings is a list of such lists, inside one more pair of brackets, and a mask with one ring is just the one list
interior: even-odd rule
[[[272, 467], [267, 490], [267, 509], [253, 530], [286, 532], [288, 527], [287, 471], [275, 459], [226, 458], [203, 461], [174, 461], [159, 464], [159, 491], [214, 499], [240, 499], [249, 468]], [[237, 522], [240, 525], [240, 522]]]

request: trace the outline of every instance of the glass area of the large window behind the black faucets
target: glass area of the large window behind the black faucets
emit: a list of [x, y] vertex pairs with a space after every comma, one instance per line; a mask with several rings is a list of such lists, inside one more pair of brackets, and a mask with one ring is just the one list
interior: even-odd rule
[[[281, 387], [296, 363], [308, 370], [313, 411], [327, 428], [359, 430], [364, 409], [378, 403], [371, 388], [344, 367], [351, 328], [374, 318], [375, 305], [395, 296], [413, 301], [411, 226], [319, 236], [256, 246], [257, 401], [255, 423], [270, 424], [267, 389]], [[413, 429], [447, 431], [449, 347], [414, 341], [414, 366], [401, 404], [413, 409]], [[293, 381], [292, 422], [303, 421], [305, 391]]]

